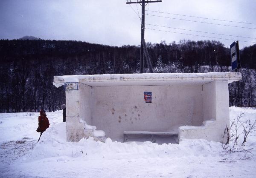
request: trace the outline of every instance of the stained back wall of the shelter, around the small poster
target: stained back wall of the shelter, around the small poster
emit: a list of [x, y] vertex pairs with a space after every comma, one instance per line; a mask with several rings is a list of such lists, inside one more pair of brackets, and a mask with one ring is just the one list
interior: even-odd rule
[[[144, 92], [152, 92], [145, 103]], [[169, 131], [203, 121], [202, 85], [93, 86], [92, 125], [106, 137], [122, 139], [124, 131]]]

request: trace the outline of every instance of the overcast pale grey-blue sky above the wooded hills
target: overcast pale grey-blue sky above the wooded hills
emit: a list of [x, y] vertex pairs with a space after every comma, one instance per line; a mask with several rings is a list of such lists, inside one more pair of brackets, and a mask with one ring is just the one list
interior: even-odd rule
[[[172, 41], [178, 42], [183, 39], [219, 40], [229, 47], [234, 40], [240, 40], [240, 49], [244, 46], [255, 44], [241, 42], [241, 40], [256, 42], [256, 0], [162, 1], [162, 3], [149, 3], [149, 6], [146, 6], [145, 14], [147, 15], [145, 23], [179, 29], [146, 25], [146, 28], [169, 31], [162, 32], [145, 29], [146, 42], [159, 43], [161, 40], [166, 40], [167, 43], [171, 43]], [[129, 6], [126, 4], [126, 0], [0, 0], [0, 39], [17, 39], [29, 35], [46, 40], [80, 40], [112, 46], [139, 45], [140, 18], [138, 17], [138, 12], [141, 16], [141, 6], [139, 4], [131, 4]], [[254, 24], [233, 23], [174, 14]], [[165, 17], [229, 26], [196, 23]], [[241, 26], [251, 29], [230, 26]], [[207, 34], [181, 29], [251, 38]], [[231, 40], [197, 37], [171, 32]]]

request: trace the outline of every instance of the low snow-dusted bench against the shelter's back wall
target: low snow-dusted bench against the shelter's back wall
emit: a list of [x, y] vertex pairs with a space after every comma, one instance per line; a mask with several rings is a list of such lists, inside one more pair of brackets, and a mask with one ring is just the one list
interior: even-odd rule
[[178, 135], [178, 131], [167, 132], [148, 132], [148, 131], [124, 131], [124, 142], [127, 135], [151, 135], [151, 142], [153, 142], [153, 135]]

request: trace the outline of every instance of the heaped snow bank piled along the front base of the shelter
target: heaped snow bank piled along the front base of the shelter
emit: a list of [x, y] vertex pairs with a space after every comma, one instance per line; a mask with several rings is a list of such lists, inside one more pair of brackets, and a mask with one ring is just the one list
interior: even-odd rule
[[[62, 123], [61, 123], [62, 124]], [[78, 143], [66, 142], [64, 139], [64, 124], [58, 124], [55, 128], [47, 130], [41, 137], [29, 160], [44, 159], [50, 157], [67, 156], [79, 158], [81, 150], [87, 155], [86, 158], [100, 160], [104, 156], [108, 159], [122, 158], [163, 158], [167, 154], [175, 152], [174, 157], [183, 156], [220, 156], [221, 144], [207, 142], [206, 140], [184, 140], [180, 144], [156, 144], [149, 141], [143, 143], [121, 143], [107, 138], [105, 143], [94, 141], [93, 137], [81, 139]], [[62, 135], [62, 136], [60, 136]], [[214, 149], [213, 149], [214, 148]]]

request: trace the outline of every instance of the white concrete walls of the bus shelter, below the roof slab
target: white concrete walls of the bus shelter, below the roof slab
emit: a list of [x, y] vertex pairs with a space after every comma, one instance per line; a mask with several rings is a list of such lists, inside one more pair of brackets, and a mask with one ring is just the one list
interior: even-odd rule
[[[79, 83], [79, 90], [66, 91], [67, 140], [83, 138], [86, 121], [116, 140], [122, 140], [124, 131], [164, 132], [179, 128], [179, 140], [222, 141], [225, 127], [229, 128], [227, 86], [227, 80], [169, 86]], [[152, 92], [152, 103], [145, 103], [144, 92]]]

